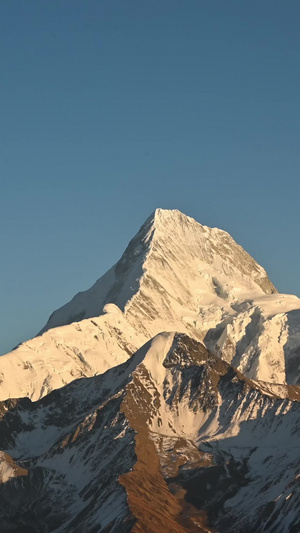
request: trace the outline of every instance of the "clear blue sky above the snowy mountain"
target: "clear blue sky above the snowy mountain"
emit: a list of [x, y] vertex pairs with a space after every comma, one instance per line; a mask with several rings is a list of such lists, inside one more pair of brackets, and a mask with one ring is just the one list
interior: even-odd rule
[[0, 353], [156, 207], [300, 295], [299, 20], [299, 0], [1, 2]]

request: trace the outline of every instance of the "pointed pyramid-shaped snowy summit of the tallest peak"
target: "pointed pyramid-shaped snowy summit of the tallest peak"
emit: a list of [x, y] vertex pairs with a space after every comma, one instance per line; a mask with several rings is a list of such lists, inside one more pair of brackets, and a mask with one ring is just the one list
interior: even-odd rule
[[249, 292], [277, 291], [266, 271], [228, 233], [202, 226], [180, 211], [156, 209], [118, 263], [55, 311], [41, 333], [98, 316], [107, 303], [128, 316], [142, 313], [151, 328], [161, 316], [176, 321], [196, 315], [203, 304], [222, 307]]

